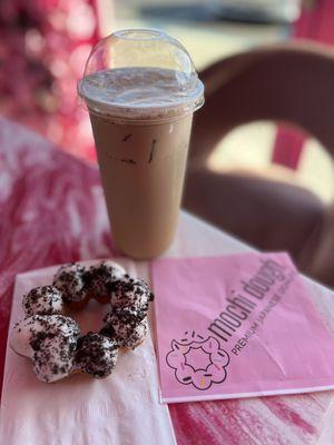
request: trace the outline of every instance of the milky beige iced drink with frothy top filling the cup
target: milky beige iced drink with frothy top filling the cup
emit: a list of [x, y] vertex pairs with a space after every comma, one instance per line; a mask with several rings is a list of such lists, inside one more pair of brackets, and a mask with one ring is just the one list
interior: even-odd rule
[[177, 227], [195, 109], [181, 76], [135, 67], [84, 79], [112, 238], [137, 259], [164, 253]]

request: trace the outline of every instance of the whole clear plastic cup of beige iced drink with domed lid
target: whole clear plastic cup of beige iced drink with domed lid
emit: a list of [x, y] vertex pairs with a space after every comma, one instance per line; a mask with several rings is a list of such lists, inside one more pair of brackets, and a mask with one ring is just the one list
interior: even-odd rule
[[193, 113], [204, 87], [186, 49], [153, 29], [99, 41], [78, 83], [90, 116], [114, 240], [160, 255], [177, 227]]

